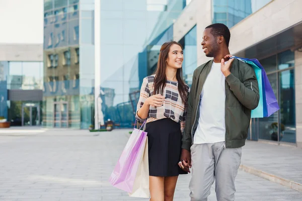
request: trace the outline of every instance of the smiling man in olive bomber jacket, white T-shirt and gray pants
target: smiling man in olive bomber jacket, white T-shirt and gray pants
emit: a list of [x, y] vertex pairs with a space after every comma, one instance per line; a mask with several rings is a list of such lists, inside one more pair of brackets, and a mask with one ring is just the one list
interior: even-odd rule
[[207, 200], [214, 178], [217, 200], [235, 200], [241, 147], [251, 110], [259, 102], [255, 72], [248, 64], [230, 59], [230, 38], [223, 24], [212, 24], [203, 32], [202, 49], [213, 60], [194, 71], [180, 158], [183, 169], [190, 172], [192, 167], [191, 201]]

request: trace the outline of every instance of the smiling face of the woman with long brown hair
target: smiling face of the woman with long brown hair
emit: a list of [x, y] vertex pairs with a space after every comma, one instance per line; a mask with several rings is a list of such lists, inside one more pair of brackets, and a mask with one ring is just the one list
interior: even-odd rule
[[166, 60], [167, 67], [181, 68], [184, 60], [184, 52], [179, 45], [173, 44], [170, 47], [168, 58]]

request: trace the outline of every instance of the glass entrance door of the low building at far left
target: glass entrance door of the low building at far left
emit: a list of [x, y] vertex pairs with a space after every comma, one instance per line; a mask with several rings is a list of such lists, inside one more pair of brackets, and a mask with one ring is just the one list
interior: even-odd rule
[[40, 126], [40, 106], [38, 104], [22, 105], [22, 126]]

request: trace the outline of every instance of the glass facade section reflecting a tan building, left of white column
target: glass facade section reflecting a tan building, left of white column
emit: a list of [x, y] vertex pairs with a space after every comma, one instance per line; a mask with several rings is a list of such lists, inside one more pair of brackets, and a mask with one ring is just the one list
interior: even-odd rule
[[94, 1], [44, 1], [43, 125], [94, 121]]

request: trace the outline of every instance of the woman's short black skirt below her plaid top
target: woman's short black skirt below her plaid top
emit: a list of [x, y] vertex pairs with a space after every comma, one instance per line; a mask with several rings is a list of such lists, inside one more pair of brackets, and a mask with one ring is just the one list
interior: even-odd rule
[[178, 166], [182, 134], [180, 124], [161, 119], [146, 124], [150, 176], [178, 176], [187, 174]]

